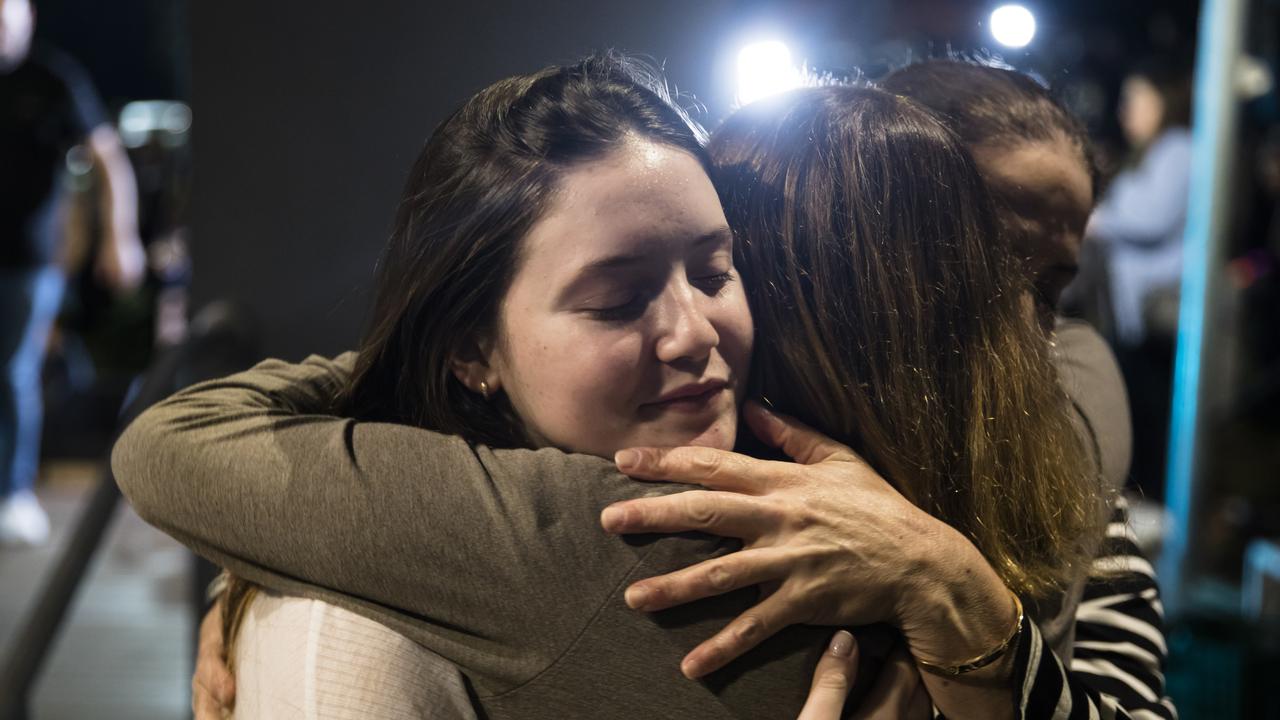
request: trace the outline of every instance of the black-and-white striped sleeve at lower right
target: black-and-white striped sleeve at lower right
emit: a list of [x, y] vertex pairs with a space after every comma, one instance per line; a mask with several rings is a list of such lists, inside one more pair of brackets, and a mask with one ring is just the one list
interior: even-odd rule
[[1084, 597], [1075, 615], [1070, 669], [1050, 650], [1039, 628], [1023, 619], [1015, 660], [1019, 708], [1027, 720], [1174, 720], [1165, 694], [1164, 609], [1151, 564], [1129, 528], [1128, 506], [1116, 501]]

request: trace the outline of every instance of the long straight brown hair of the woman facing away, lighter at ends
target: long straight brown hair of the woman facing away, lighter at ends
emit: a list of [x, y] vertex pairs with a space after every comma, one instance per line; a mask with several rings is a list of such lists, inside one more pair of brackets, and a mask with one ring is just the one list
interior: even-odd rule
[[1020, 592], [1096, 521], [1066, 400], [961, 142], [887, 92], [749, 106], [709, 146], [764, 397], [850, 443]]

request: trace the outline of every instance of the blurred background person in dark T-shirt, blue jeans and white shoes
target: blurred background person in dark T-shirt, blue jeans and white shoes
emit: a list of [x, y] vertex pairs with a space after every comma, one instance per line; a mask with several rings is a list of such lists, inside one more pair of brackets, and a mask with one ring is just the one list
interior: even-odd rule
[[65, 281], [58, 266], [67, 151], [101, 173], [105, 237], [95, 270], [134, 287], [146, 266], [137, 188], [119, 136], [83, 70], [32, 42], [31, 0], [0, 0], [0, 544], [40, 544], [49, 518], [32, 486], [40, 459], [40, 374]]

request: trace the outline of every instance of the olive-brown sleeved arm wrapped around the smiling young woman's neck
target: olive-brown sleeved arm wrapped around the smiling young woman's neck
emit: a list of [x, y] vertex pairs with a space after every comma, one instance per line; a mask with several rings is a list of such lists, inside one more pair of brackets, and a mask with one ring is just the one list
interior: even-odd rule
[[[316, 414], [349, 366], [351, 356], [269, 360], [157, 404], [115, 446], [120, 488], [148, 523], [244, 579], [489, 667], [485, 689], [527, 679], [637, 562], [634, 547], [576, 532], [595, 525], [599, 507], [634, 497], [635, 483], [596, 457], [489, 450]], [[586, 501], [545, 502], [556, 496]], [[556, 556], [527, 552], [531, 537]], [[580, 592], [521, 603], [492, 592], [557, 583]], [[529, 637], [534, 625], [545, 632]], [[503, 647], [526, 652], [497, 665]]]

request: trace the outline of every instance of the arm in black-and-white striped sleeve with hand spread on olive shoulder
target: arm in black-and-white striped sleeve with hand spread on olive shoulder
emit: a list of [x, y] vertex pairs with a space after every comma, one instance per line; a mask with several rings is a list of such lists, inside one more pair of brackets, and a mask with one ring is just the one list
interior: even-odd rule
[[[758, 409], [750, 413], [759, 415]], [[753, 425], [759, 428], [762, 423], [756, 419]], [[774, 432], [773, 437], [786, 432], [812, 433], [791, 425]], [[742, 583], [777, 584], [778, 589], [764, 602], [690, 653], [686, 671], [692, 667], [692, 674], [701, 674], [719, 666], [792, 623], [890, 621], [902, 630], [919, 659], [969, 657], [972, 652], [933, 650], [938, 642], [946, 647], [948, 641], [961, 641], [966, 635], [980, 638], [984, 634], [987, 639], [977, 641], [974, 647], [995, 647], [1001, 637], [998, 633], [1010, 628], [1011, 615], [1004, 605], [1007, 591], [998, 578], [991, 583], [978, 582], [995, 571], [980, 556], [974, 557], [975, 548], [963, 538], [943, 534], [941, 542], [932, 541], [932, 552], [909, 555], [940, 560], [909, 562], [919, 565], [924, 573], [914, 582], [900, 580], [899, 584], [913, 588], [905, 602], [886, 602], [891, 596], [877, 585], [878, 578], [892, 575], [892, 564], [882, 562], [877, 568], [873, 544], [883, 546], [883, 538], [893, 537], [899, 538], [895, 547], [906, 552], [906, 539], [924, 536], [927, 530], [896, 532], [890, 525], [877, 525], [874, 516], [863, 518], [860, 512], [865, 506], [872, 506], [874, 515], [899, 515], [888, 510], [892, 505], [883, 502], [892, 497], [887, 484], [877, 483], [855, 460], [840, 460], [840, 447], [831, 441], [815, 434], [810, 439], [815, 447], [828, 443], [829, 457], [787, 466], [728, 454], [717, 456], [705, 450], [643, 450], [628, 470], [637, 477], [684, 477], [686, 482], [700, 482], [716, 489], [631, 501], [604, 514], [604, 524], [613, 532], [698, 529], [741, 537], [746, 543], [741, 552], [637, 583], [627, 592], [634, 607], [669, 607]], [[788, 454], [801, 462], [805, 460], [791, 450]], [[865, 527], [876, 539], [863, 539], [868, 534]], [[966, 570], [957, 575], [956, 568]], [[893, 605], [899, 609], [886, 610]], [[989, 630], [975, 624], [975, 619], [987, 615], [996, 621]], [[1167, 652], [1158, 589], [1151, 565], [1142, 557], [1128, 528], [1123, 498], [1117, 500], [1106, 539], [1093, 562], [1074, 625], [1071, 662], [1059, 659], [1036, 621], [1024, 615], [1015, 652], [1006, 652], [995, 664], [972, 674], [956, 678], [922, 674], [922, 678], [934, 705], [952, 719], [1176, 716], [1164, 688], [1162, 666]], [[952, 643], [951, 647], [960, 646]]]

